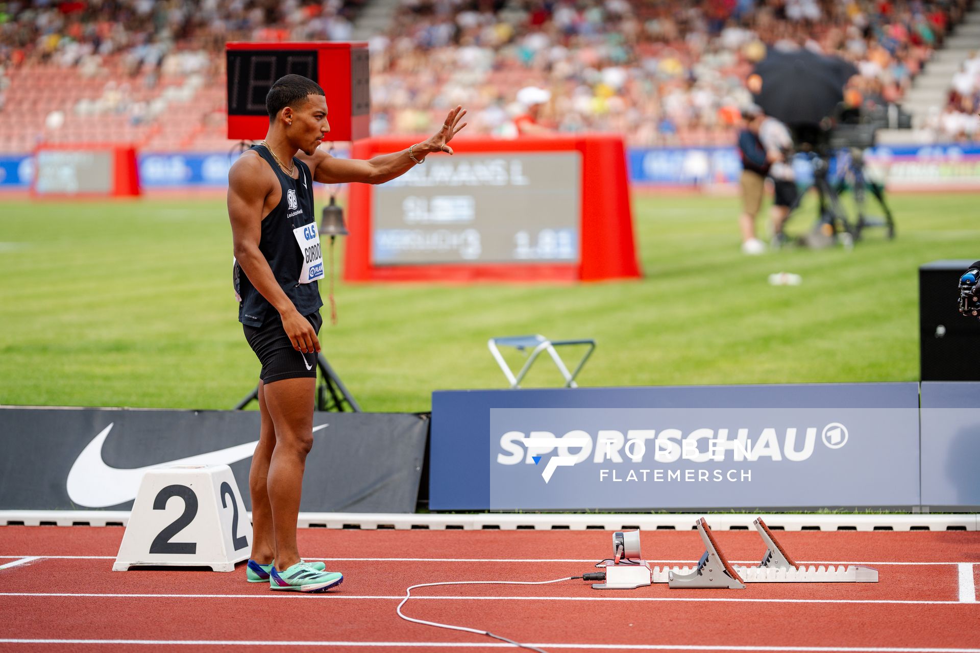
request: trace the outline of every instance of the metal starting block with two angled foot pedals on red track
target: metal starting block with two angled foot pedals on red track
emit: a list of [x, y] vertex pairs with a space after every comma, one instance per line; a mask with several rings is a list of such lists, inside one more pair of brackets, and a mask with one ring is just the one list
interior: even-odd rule
[[[779, 543], [775, 535], [757, 519], [756, 530], [765, 544], [765, 554], [759, 565], [732, 565], [714, 539], [711, 527], [704, 518], [695, 523], [698, 535], [705, 543], [705, 552], [694, 567], [650, 566], [640, 557], [639, 531], [613, 535], [614, 558], [606, 565], [606, 583], [596, 589], [635, 589], [651, 583], [667, 583], [672, 588], [724, 587], [744, 589], [746, 583], [877, 583], [878, 571], [856, 565], [800, 565]], [[617, 536], [619, 539], [617, 540]], [[621, 547], [625, 536], [626, 547]], [[635, 545], [630, 542], [635, 538]], [[629, 551], [629, 553], [627, 553]], [[635, 559], [631, 559], [631, 555]]]

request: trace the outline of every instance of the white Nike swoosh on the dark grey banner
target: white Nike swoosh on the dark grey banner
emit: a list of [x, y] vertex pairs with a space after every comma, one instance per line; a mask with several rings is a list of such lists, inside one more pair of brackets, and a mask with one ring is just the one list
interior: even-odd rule
[[[257, 440], [254, 443], [236, 444], [217, 451], [199, 453], [146, 467], [120, 469], [110, 467], [102, 459], [102, 446], [114, 425], [115, 422], [100, 431], [74, 460], [72, 469], [68, 473], [66, 489], [69, 498], [77, 505], [107, 508], [131, 501], [136, 498], [136, 491], [139, 490], [143, 475], [151, 469], [169, 465], [230, 465], [250, 457], [255, 453], [255, 447], [259, 443]], [[327, 426], [329, 424], [315, 426], [313, 432], [317, 433]]]

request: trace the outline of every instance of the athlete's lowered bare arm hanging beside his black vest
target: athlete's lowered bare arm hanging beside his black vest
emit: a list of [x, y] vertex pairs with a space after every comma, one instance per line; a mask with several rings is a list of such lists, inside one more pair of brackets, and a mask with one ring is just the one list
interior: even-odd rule
[[317, 332], [279, 287], [269, 261], [259, 250], [262, 210], [271, 190], [263, 182], [264, 165], [259, 157], [242, 156], [228, 170], [228, 218], [235, 258], [255, 289], [279, 311], [293, 348], [304, 353], [319, 351]]

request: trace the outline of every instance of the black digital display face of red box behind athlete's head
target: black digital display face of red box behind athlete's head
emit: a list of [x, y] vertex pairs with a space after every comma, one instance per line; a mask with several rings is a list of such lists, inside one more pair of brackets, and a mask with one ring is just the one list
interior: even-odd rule
[[316, 50], [228, 50], [226, 54], [229, 116], [266, 116], [266, 95], [285, 74], [319, 79]]

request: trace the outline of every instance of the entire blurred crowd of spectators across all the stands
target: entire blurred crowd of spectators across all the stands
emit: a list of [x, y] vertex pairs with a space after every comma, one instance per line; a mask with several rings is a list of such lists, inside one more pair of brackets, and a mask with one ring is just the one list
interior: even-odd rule
[[[226, 40], [345, 40], [367, 0], [0, 3], [3, 70], [27, 61], [98, 75], [107, 59], [152, 84], [220, 84]], [[370, 39], [372, 133], [427, 131], [463, 104], [469, 133], [610, 130], [632, 145], [733, 142], [746, 78], [768, 48], [835, 54], [862, 101], [901, 101], [970, 0], [399, 0]], [[978, 60], [935, 117], [976, 131]], [[958, 77], [957, 77], [958, 79]], [[974, 121], [962, 116], [972, 116]], [[956, 125], [954, 123], [956, 122]], [[969, 124], [967, 124], [969, 122]]]

